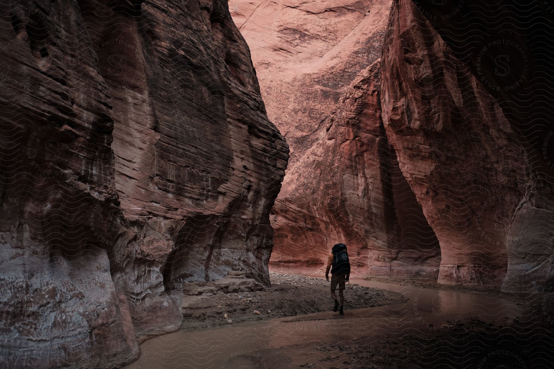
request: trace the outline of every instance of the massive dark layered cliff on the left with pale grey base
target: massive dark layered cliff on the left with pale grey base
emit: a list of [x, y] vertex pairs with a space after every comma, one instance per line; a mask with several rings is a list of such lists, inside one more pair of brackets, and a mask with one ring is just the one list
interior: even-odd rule
[[183, 282], [267, 284], [288, 148], [227, 3], [0, 14], [2, 366], [122, 365]]

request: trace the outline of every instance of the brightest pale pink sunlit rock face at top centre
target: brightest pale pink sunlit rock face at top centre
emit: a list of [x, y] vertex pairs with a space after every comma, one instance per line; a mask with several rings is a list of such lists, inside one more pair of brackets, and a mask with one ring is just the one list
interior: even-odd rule
[[229, 0], [268, 117], [290, 145], [289, 164], [319, 140], [315, 132], [358, 72], [381, 58], [390, 7], [391, 0]]

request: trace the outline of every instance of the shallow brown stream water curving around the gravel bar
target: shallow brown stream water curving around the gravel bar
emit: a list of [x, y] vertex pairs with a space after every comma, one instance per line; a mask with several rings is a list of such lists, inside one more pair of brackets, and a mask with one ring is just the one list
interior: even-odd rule
[[494, 294], [360, 279], [352, 279], [351, 283], [397, 292], [408, 300], [348, 310], [344, 316], [325, 311], [220, 328], [179, 330], [144, 342], [139, 360], [125, 368], [296, 368], [311, 361], [317, 362], [315, 367], [331, 368], [337, 363], [317, 361], [323, 356], [321, 351], [319, 356], [314, 352], [337, 343], [356, 346], [361, 337], [379, 342], [398, 333], [417, 335], [470, 316], [506, 324], [524, 315], [524, 306], [516, 300]]

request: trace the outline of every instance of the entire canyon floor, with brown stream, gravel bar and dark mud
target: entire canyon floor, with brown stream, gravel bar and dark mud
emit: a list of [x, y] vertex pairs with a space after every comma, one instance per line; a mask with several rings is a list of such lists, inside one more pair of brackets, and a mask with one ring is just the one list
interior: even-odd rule
[[324, 279], [270, 278], [264, 290], [202, 297], [183, 329], [144, 342], [127, 368], [553, 366], [551, 294], [352, 279], [341, 316]]

